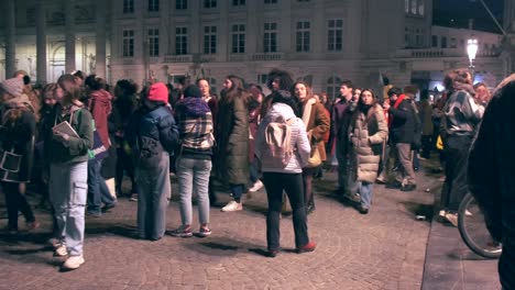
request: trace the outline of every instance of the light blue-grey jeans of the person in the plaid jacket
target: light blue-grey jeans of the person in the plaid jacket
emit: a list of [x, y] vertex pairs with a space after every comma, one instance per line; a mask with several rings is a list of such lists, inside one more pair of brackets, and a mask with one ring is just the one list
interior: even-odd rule
[[180, 221], [183, 225], [191, 224], [191, 194], [198, 194], [198, 220], [200, 224], [209, 223], [209, 174], [211, 160], [183, 158], [177, 160], [177, 179], [180, 196]]

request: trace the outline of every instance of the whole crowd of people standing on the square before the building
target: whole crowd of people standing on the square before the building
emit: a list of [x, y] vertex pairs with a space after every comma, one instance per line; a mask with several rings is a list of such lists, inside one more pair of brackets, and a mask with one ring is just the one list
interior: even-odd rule
[[[445, 148], [440, 215], [456, 225], [468, 192], [468, 152], [491, 99], [484, 83], [472, 86], [467, 69], [446, 76], [446, 91], [437, 100], [427, 90], [401, 89], [386, 78], [380, 93], [344, 80], [339, 96], [329, 100], [280, 69], [269, 74], [267, 94], [238, 76], [224, 79], [219, 97], [204, 78], [182, 85], [150, 81], [139, 90], [122, 79], [111, 88], [81, 71], [41, 90], [24, 71], [4, 80], [0, 179], [7, 231], [18, 232], [18, 211], [26, 230], [39, 227], [24, 193], [29, 181], [41, 185], [42, 202], [52, 205], [55, 255], [68, 257], [63, 269], [76, 269], [85, 261], [85, 215], [101, 216], [117, 205], [117, 197], [138, 202], [140, 238], [161, 239], [174, 172], [180, 226], [168, 232], [172, 236], [194, 235], [194, 193], [195, 233], [206, 237], [217, 182], [231, 194], [223, 212], [241, 211], [244, 194], [264, 187], [267, 256], [281, 249], [278, 224], [288, 201], [296, 250], [313, 252], [307, 215], [316, 209], [313, 180], [322, 178], [322, 168], [338, 171], [333, 193], [368, 214], [374, 183], [416, 190], [418, 159], [430, 157], [437, 140]], [[130, 192], [122, 192], [125, 175]]]

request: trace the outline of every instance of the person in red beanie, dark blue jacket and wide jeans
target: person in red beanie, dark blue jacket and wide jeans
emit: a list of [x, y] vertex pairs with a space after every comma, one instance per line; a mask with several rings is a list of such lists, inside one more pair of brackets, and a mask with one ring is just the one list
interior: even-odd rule
[[140, 238], [158, 241], [166, 231], [166, 208], [171, 196], [169, 155], [178, 142], [178, 130], [168, 89], [152, 85], [143, 96], [125, 132], [135, 164], [138, 182], [138, 233]]

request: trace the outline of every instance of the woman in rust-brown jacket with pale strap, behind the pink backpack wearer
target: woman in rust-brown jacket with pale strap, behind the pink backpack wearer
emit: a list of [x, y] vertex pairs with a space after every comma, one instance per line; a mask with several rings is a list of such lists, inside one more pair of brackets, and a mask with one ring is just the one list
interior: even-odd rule
[[[326, 114], [324, 104], [320, 103], [315, 97], [309, 85], [304, 81], [294, 83], [293, 93], [298, 101], [298, 109], [302, 112], [302, 119], [306, 125], [306, 132], [311, 146], [310, 157], [318, 150], [320, 161], [326, 160], [326, 145], [324, 144], [324, 135], [329, 131], [330, 119]], [[313, 176], [321, 165], [315, 165], [303, 168], [303, 183], [304, 183], [304, 201], [306, 202], [306, 211], [310, 214], [315, 211], [315, 198], [313, 192]]]

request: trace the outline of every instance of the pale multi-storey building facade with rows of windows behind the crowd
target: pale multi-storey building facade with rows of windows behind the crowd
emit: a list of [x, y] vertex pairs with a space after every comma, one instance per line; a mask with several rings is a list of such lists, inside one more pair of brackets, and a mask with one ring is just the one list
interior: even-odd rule
[[[431, 26], [431, 0], [6, 0], [0, 8], [11, 11], [0, 30], [0, 79], [25, 69], [50, 82], [81, 69], [110, 82], [206, 77], [220, 87], [231, 74], [264, 83], [283, 68], [333, 96], [343, 79], [379, 88], [382, 76], [432, 89], [445, 70], [468, 66], [461, 45], [470, 32]], [[495, 37], [483, 37], [489, 49], [480, 47], [475, 63], [490, 81], [506, 72]]]

